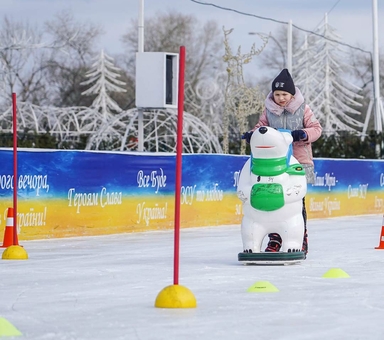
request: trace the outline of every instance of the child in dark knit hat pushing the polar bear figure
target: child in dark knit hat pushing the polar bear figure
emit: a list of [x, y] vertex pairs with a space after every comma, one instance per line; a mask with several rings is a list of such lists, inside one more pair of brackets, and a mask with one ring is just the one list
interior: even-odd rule
[[[272, 91], [265, 99], [265, 109], [256, 126], [242, 136], [247, 143], [253, 131], [260, 126], [275, 129], [291, 130], [293, 137], [293, 156], [303, 165], [307, 183], [314, 183], [314, 164], [312, 142], [320, 138], [322, 127], [310, 107], [305, 104], [304, 97], [287, 69], [283, 69], [272, 82]], [[307, 213], [305, 197], [303, 199], [304, 239], [303, 252], [308, 252]], [[282, 239], [279, 234], [271, 233], [265, 251], [277, 252], [281, 248]]]

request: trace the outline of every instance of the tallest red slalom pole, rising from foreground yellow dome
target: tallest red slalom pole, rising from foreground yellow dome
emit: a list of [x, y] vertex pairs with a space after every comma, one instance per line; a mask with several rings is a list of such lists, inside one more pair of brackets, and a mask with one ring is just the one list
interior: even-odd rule
[[176, 183], [175, 183], [175, 239], [173, 284], [179, 284], [179, 252], [180, 252], [180, 194], [181, 194], [181, 159], [183, 152], [183, 112], [184, 112], [184, 73], [185, 46], [180, 46], [179, 55], [179, 93], [177, 103], [177, 144], [176, 144]]

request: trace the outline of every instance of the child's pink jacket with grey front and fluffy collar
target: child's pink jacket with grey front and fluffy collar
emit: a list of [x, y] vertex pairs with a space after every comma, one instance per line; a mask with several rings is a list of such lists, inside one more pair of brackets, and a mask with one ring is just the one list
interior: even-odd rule
[[297, 87], [295, 96], [285, 107], [275, 103], [272, 92], [268, 94], [265, 109], [252, 130], [260, 126], [291, 131], [304, 130], [308, 138], [305, 141], [293, 142], [293, 155], [300, 164], [313, 165], [312, 142], [320, 138], [323, 129], [310, 107], [305, 104], [304, 97]]

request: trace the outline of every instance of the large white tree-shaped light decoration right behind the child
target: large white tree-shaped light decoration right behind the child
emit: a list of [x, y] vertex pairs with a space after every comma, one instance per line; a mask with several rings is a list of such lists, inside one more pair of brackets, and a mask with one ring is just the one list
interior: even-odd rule
[[328, 24], [327, 15], [316, 32], [329, 39], [314, 35], [305, 40], [295, 55], [295, 84], [302, 90], [326, 136], [337, 131], [361, 134], [363, 123], [351, 116], [360, 115], [353, 107], [362, 106], [356, 101], [363, 98], [357, 93], [361, 89], [344, 79], [343, 70], [348, 65], [342, 62], [343, 50], [337, 43], [340, 37]]

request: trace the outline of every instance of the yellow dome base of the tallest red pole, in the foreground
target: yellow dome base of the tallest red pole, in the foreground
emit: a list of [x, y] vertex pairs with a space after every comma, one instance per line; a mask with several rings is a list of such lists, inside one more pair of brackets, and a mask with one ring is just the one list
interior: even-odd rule
[[184, 286], [172, 285], [161, 290], [155, 301], [157, 308], [196, 308], [196, 298]]

